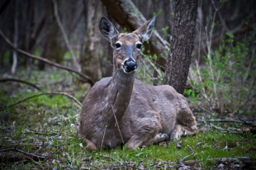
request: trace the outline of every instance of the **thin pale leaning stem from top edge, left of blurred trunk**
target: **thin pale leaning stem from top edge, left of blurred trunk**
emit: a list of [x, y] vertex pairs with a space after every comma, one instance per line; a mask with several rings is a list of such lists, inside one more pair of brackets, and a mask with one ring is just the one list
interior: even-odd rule
[[60, 28], [60, 31], [62, 32], [63, 36], [64, 36], [64, 40], [65, 40], [65, 43], [68, 47], [68, 50], [69, 50], [69, 53], [71, 54], [71, 57], [72, 57], [72, 60], [73, 60], [73, 64], [74, 66], [77, 68], [77, 70], [80, 72], [81, 71], [81, 68], [80, 68], [80, 65], [78, 64], [78, 60], [76, 59], [75, 55], [73, 54], [73, 50], [71, 49], [70, 47], [70, 44], [69, 44], [69, 39], [68, 39], [68, 36], [67, 34], [65, 33], [64, 31], [64, 27], [62, 26], [61, 24], [61, 21], [59, 20], [59, 14], [58, 14], [58, 5], [57, 5], [57, 2], [55, 0], [52, 0], [54, 2], [54, 6], [55, 6], [55, 18], [56, 18], [56, 21], [58, 23], [58, 26]]

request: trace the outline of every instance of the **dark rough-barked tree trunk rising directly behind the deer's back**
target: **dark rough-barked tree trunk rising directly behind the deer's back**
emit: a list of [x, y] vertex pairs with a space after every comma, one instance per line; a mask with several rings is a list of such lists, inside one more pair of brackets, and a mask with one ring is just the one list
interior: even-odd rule
[[183, 94], [191, 63], [197, 23], [198, 0], [179, 0], [175, 6], [173, 39], [168, 54], [164, 84]]

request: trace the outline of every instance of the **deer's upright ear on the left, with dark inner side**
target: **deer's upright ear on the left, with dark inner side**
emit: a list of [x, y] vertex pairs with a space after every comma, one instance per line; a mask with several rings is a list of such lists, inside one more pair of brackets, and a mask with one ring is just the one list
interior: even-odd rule
[[113, 24], [111, 23], [111, 21], [109, 21], [106, 17], [102, 17], [99, 23], [99, 29], [101, 31], [102, 36], [108, 40], [109, 42], [111, 42], [113, 39], [115, 39], [117, 37], [117, 35], [119, 34], [118, 31], [116, 31], [115, 26], [113, 26]]

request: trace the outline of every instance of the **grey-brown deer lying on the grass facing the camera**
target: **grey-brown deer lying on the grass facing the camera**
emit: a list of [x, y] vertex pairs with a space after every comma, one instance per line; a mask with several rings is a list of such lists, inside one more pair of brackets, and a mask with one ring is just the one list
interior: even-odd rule
[[99, 30], [113, 48], [113, 73], [95, 83], [83, 101], [78, 138], [89, 150], [123, 144], [137, 149], [197, 134], [197, 120], [182, 94], [169, 85], [152, 86], [135, 78], [154, 21], [119, 33], [107, 17], [100, 19]]

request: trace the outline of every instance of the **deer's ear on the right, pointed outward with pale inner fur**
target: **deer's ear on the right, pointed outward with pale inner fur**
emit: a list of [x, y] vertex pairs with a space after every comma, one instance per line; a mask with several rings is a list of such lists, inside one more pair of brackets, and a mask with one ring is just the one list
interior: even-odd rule
[[152, 32], [153, 32], [154, 21], [155, 21], [155, 17], [153, 17], [149, 21], [146, 21], [144, 25], [140, 26], [140, 28], [133, 31], [133, 33], [139, 35], [143, 42], [146, 41], [146, 40], [149, 40], [149, 38], [150, 38], [150, 36], [152, 35]]

